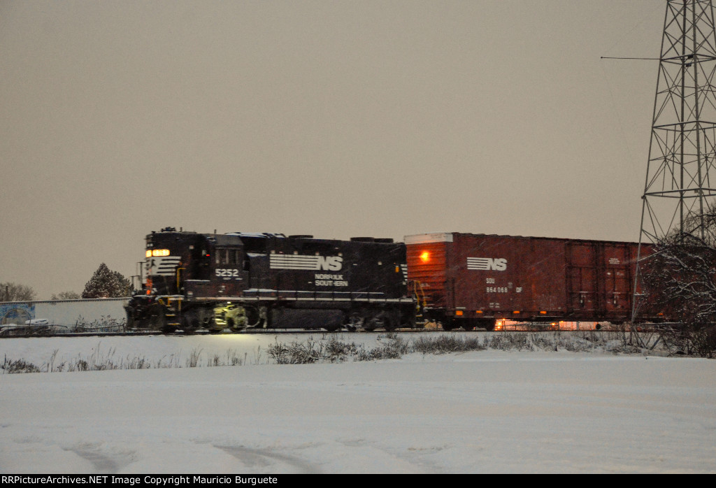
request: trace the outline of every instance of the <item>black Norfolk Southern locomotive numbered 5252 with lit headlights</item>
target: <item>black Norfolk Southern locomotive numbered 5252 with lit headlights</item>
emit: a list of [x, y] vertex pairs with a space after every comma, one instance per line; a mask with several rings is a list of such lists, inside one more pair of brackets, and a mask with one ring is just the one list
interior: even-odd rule
[[311, 235], [147, 235], [127, 324], [160, 331], [415, 326], [405, 244]]

